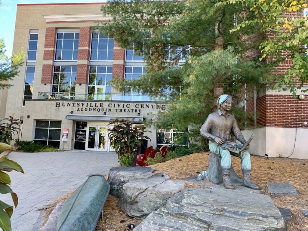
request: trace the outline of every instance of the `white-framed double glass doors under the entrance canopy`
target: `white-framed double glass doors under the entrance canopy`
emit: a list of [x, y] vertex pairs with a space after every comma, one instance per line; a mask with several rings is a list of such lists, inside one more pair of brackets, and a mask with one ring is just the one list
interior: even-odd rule
[[107, 127], [87, 126], [86, 150], [107, 151]]

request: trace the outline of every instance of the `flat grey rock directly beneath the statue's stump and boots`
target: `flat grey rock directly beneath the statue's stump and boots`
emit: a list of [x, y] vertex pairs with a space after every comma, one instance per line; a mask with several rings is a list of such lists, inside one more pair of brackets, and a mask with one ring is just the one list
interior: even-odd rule
[[[196, 180], [195, 176], [188, 177], [188, 178], [185, 178], [183, 180], [186, 180], [186, 181], [189, 181], [189, 182], [193, 182], [194, 184], [199, 185], [199, 186], [201, 186], [203, 188], [224, 189], [223, 184], [214, 184], [210, 180]], [[251, 189], [251, 188], [244, 187], [242, 185], [242, 183], [232, 182], [232, 184], [233, 184], [235, 190], [238, 190], [240, 192], [264, 194], [263, 189], [261, 189], [261, 190], [254, 190], [254, 189]]]

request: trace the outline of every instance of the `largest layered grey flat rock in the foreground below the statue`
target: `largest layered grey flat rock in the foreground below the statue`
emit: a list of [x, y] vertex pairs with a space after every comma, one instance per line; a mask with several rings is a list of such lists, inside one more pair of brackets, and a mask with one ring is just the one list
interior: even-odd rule
[[269, 196], [238, 190], [187, 188], [134, 231], [281, 231], [285, 224]]

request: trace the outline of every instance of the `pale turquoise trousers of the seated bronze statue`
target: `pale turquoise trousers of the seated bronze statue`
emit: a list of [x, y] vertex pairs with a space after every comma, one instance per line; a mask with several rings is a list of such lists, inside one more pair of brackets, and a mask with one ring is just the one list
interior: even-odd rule
[[239, 155], [237, 153], [229, 152], [228, 150], [221, 148], [221, 145], [214, 141], [209, 141], [209, 149], [216, 155], [221, 156], [221, 168], [231, 168], [231, 155], [233, 155], [241, 158], [242, 169], [251, 170], [250, 155], [247, 150], [241, 152]]

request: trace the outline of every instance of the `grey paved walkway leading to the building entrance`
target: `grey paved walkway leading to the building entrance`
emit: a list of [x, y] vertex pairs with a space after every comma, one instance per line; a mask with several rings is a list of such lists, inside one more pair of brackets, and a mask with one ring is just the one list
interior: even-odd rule
[[[34, 230], [38, 226], [38, 208], [77, 188], [87, 175], [107, 174], [111, 167], [118, 166], [115, 152], [12, 152], [9, 158], [18, 162], [25, 172], [9, 173], [11, 188], [19, 199], [11, 217], [13, 231]], [[0, 194], [0, 198], [13, 205], [10, 194]]]

